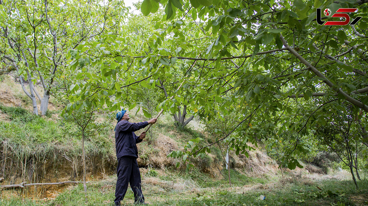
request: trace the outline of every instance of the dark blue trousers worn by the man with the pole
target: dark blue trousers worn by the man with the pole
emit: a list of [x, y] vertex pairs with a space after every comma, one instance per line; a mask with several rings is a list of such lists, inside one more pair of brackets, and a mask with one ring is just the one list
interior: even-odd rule
[[120, 205], [128, 189], [128, 183], [134, 193], [134, 202], [144, 203], [141, 187], [141, 173], [139, 172], [137, 159], [131, 156], [123, 156], [118, 159], [117, 181], [115, 189], [115, 205]]

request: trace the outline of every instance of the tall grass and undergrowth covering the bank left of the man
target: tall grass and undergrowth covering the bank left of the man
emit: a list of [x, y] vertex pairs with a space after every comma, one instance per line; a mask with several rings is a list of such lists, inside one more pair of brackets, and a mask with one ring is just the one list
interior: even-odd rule
[[[81, 140], [66, 132], [75, 127], [60, 119], [32, 114], [22, 107], [0, 105], [0, 110], [10, 120], [0, 122], [0, 151], [3, 151], [0, 152], [0, 177], [14, 176], [28, 183], [38, 182], [49, 177], [46, 170], [57, 171], [63, 166], [70, 168], [71, 179], [78, 179], [82, 168]], [[105, 162], [115, 163], [110, 160], [115, 155], [111, 130], [105, 128], [85, 141], [87, 164], [92, 172], [105, 171]], [[98, 162], [102, 168], [93, 166], [97, 164], [93, 162], [95, 159], [102, 161]]]

